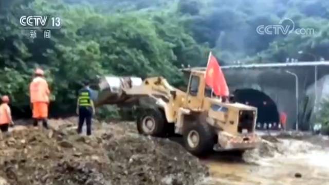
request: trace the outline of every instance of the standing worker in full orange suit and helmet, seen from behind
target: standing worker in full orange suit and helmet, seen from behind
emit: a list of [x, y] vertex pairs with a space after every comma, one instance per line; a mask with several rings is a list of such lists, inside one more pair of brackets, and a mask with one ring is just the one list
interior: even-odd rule
[[50, 90], [44, 78], [44, 71], [40, 68], [34, 71], [34, 79], [30, 84], [30, 102], [33, 114], [33, 126], [38, 126], [42, 121], [44, 128], [48, 129], [48, 105]]

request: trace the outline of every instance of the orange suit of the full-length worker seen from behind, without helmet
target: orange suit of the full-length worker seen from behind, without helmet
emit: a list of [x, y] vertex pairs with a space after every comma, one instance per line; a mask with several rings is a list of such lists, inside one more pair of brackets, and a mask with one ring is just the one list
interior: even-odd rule
[[42, 77], [36, 77], [30, 84], [30, 102], [33, 105], [33, 118], [48, 117], [50, 90], [47, 81]]

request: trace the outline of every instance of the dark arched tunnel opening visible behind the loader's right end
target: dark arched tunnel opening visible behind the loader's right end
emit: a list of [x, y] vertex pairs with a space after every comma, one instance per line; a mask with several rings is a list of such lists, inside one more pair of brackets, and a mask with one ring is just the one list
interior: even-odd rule
[[280, 117], [276, 103], [265, 93], [255, 89], [237, 89], [234, 91], [236, 102], [257, 107], [257, 130], [280, 130]]

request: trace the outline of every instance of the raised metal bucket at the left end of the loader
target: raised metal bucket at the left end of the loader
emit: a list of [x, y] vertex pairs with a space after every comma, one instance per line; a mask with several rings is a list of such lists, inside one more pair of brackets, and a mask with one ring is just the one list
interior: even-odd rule
[[99, 82], [99, 92], [96, 106], [106, 104], [124, 104], [131, 100], [131, 96], [125, 94], [125, 89], [142, 84], [142, 80], [136, 77], [105, 76]]

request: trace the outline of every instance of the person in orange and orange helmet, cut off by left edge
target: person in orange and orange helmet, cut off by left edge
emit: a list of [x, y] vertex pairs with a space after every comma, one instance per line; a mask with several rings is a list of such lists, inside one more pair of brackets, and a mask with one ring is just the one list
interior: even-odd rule
[[14, 122], [11, 119], [11, 110], [8, 105], [9, 97], [3, 96], [1, 100], [2, 104], [0, 105], [0, 130], [3, 133], [7, 133], [9, 125], [13, 125]]

